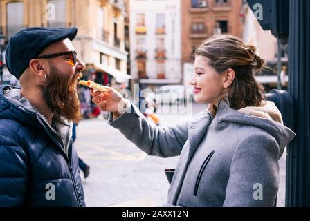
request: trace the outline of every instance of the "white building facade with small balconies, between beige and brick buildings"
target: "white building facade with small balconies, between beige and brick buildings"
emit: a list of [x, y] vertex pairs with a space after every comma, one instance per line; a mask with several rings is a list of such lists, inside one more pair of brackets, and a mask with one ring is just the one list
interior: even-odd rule
[[131, 0], [131, 74], [143, 87], [181, 83], [181, 1]]

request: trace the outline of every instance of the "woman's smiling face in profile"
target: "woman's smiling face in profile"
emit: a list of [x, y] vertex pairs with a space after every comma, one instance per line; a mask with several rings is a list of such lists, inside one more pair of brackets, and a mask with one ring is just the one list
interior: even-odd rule
[[194, 86], [194, 100], [197, 103], [214, 104], [224, 97], [223, 76], [208, 64], [208, 59], [197, 55], [194, 62], [194, 76], [190, 84]]

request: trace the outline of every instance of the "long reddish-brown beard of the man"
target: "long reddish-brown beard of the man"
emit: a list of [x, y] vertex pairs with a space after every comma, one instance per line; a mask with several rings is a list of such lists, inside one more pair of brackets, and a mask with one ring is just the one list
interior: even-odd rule
[[78, 71], [73, 76], [68, 77], [68, 75], [60, 73], [51, 64], [51, 73], [46, 76], [46, 84], [40, 86], [45, 102], [51, 111], [55, 115], [75, 123], [82, 119], [80, 101], [76, 90], [78, 79], [81, 76], [82, 74]]

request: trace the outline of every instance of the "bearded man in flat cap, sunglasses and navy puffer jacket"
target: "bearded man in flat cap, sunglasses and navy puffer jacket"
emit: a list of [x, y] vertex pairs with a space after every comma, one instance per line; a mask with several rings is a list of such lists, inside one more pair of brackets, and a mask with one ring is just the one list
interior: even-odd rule
[[26, 28], [9, 41], [6, 66], [21, 88], [0, 87], [0, 206], [85, 206], [71, 139], [85, 68], [77, 32]]

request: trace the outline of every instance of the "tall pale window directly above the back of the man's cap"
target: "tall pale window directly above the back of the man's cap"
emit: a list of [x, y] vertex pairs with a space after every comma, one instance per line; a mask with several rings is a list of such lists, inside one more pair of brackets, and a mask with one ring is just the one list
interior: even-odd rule
[[20, 1], [7, 4], [7, 35], [8, 38], [24, 28], [24, 4]]

